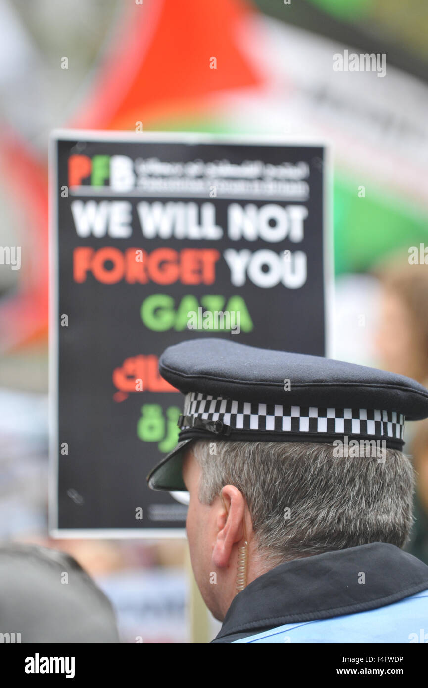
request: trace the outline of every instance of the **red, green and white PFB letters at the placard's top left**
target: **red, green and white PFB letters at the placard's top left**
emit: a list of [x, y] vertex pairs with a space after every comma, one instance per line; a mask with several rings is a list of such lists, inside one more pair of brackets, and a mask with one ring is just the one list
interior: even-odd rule
[[127, 155], [70, 155], [68, 186], [107, 186], [110, 191], [131, 191], [136, 182], [134, 164]]

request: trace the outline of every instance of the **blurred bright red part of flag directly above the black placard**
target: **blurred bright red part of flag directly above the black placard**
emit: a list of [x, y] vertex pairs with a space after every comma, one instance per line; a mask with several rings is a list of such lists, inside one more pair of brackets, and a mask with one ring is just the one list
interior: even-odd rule
[[243, 45], [253, 13], [242, 0], [131, 5], [94, 96], [72, 126], [135, 129], [136, 122], [194, 111], [215, 92], [259, 85]]

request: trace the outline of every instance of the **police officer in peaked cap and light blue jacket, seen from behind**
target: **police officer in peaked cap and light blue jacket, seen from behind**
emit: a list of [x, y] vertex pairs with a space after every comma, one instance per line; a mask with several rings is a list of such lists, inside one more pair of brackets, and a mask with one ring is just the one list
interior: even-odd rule
[[185, 395], [153, 489], [189, 492], [213, 643], [411, 643], [428, 567], [402, 551], [414, 475], [405, 418], [428, 392], [376, 369], [196, 338], [160, 373]]

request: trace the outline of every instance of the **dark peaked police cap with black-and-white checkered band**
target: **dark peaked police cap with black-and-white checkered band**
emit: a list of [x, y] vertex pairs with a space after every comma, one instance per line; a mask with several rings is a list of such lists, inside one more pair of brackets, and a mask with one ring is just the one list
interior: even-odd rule
[[178, 445], [147, 477], [157, 490], [186, 490], [182, 456], [195, 439], [332, 444], [346, 436], [402, 449], [405, 419], [428, 416], [428, 391], [411, 378], [223, 338], [171, 346], [159, 369], [185, 398]]

